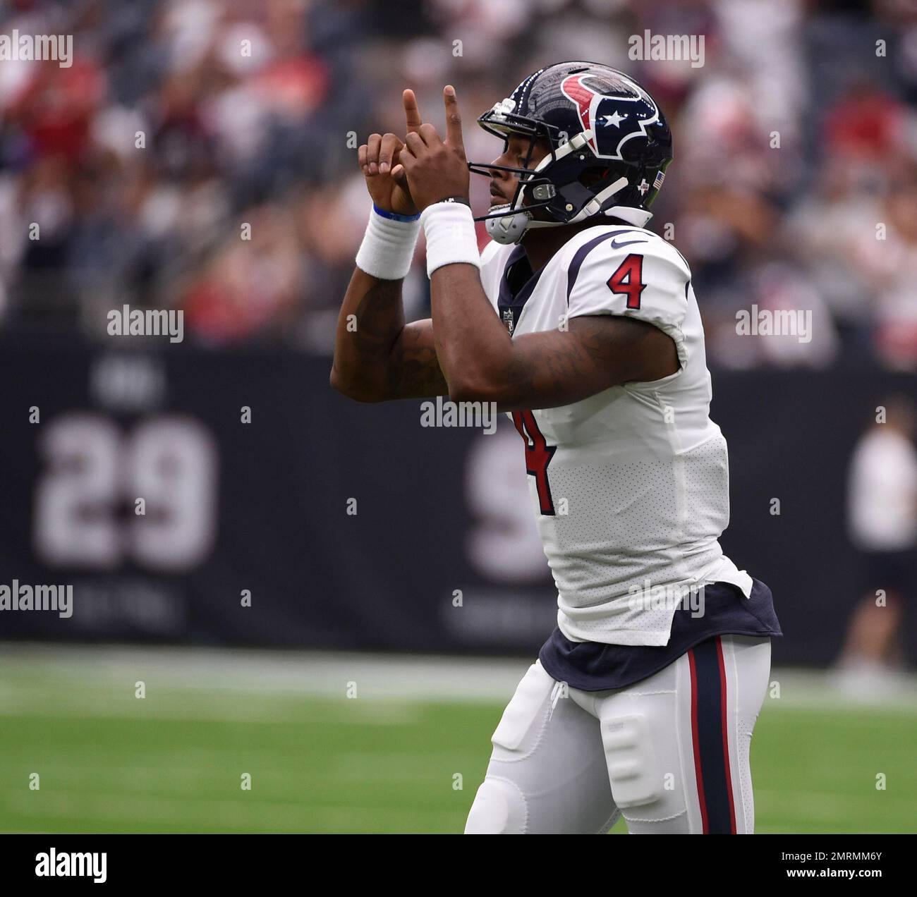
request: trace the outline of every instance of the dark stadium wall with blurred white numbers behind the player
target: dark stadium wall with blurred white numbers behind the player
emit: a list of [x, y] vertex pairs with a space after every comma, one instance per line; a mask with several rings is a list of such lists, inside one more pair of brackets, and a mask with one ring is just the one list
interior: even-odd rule
[[[0, 348], [0, 586], [73, 587], [71, 616], [2, 612], [0, 638], [532, 655], [554, 626], [506, 421], [422, 426], [277, 350]], [[714, 374], [723, 545], [773, 590], [777, 663], [840, 647], [864, 589], [846, 466], [892, 390], [917, 398], [904, 375]]]

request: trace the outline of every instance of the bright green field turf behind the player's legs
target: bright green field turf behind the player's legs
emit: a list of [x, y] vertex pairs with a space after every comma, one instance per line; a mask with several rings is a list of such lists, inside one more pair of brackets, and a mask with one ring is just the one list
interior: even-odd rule
[[[203, 652], [132, 663], [124, 650], [0, 651], [0, 830], [460, 832], [503, 709], [492, 697], [414, 696], [422, 666], [403, 671], [416, 689], [367, 681], [365, 693], [361, 668], [348, 699], [346, 664], [312, 689], [312, 673], [262, 677], [258, 655], [241, 669], [226, 661], [223, 675], [196, 668]], [[765, 704], [752, 747], [757, 831], [917, 830], [917, 703], [817, 703]]]

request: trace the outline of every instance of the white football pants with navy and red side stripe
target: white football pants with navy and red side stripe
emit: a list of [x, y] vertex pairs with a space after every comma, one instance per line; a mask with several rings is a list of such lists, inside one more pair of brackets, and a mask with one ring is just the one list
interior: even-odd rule
[[749, 747], [770, 639], [717, 636], [608, 692], [554, 681], [536, 661], [493, 733], [466, 835], [751, 834]]

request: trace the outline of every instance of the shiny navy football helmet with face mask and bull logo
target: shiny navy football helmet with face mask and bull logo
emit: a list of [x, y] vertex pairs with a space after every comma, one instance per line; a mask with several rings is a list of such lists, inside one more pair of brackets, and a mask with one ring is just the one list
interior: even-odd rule
[[[558, 62], [539, 69], [478, 123], [502, 138], [538, 138], [550, 153], [536, 168], [469, 162], [476, 174], [519, 175], [509, 205], [476, 218], [497, 242], [517, 243], [529, 227], [616, 217], [643, 227], [672, 161], [672, 136], [656, 101], [624, 72], [596, 62]], [[585, 182], [585, 183], [584, 183]], [[537, 216], [533, 213], [540, 210]]]

